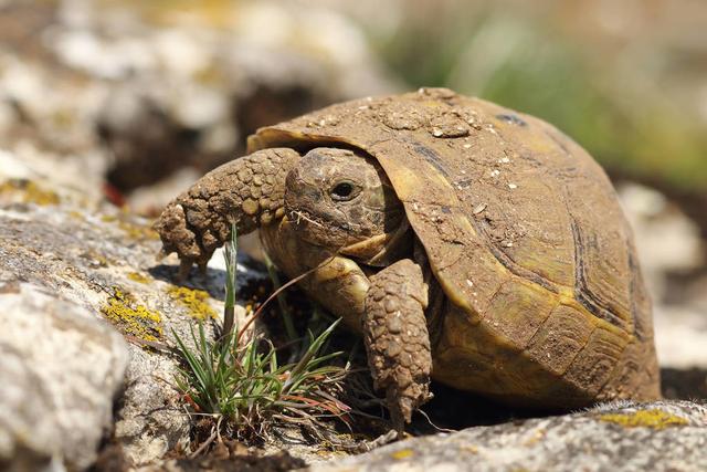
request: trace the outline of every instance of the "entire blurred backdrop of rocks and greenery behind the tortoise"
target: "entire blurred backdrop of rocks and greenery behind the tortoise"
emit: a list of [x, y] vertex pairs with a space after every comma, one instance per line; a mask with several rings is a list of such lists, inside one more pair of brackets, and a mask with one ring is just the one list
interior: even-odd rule
[[704, 0], [0, 0], [0, 149], [147, 217], [260, 126], [423, 85], [542, 117], [605, 167], [665, 375], [707, 397]]

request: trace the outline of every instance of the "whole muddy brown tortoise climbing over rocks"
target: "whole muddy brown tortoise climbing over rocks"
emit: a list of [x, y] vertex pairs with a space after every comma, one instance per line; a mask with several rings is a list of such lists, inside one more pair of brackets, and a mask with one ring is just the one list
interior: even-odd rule
[[261, 128], [156, 222], [182, 271], [235, 224], [363, 335], [401, 431], [435, 379], [509, 405], [659, 397], [651, 301], [602, 168], [546, 122], [446, 88]]

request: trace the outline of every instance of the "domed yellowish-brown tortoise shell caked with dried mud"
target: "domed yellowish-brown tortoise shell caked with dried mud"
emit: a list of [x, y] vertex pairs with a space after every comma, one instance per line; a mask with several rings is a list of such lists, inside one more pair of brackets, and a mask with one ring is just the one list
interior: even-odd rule
[[551, 125], [444, 88], [337, 104], [249, 153], [354, 147], [405, 207], [447, 302], [433, 377], [534, 406], [658, 397], [651, 302], [601, 167]]

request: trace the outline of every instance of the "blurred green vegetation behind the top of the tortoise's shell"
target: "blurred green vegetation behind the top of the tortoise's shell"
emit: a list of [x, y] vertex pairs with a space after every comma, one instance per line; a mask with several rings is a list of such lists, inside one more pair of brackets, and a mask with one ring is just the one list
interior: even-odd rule
[[707, 130], [659, 80], [630, 61], [604, 61], [537, 15], [463, 7], [407, 19], [388, 36], [369, 29], [373, 46], [411, 88], [449, 86], [539, 116], [610, 174], [707, 191]]

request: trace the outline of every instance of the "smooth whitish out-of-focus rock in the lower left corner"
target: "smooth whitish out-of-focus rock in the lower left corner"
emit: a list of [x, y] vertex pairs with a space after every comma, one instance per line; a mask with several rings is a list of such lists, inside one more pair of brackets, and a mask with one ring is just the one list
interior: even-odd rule
[[0, 276], [0, 469], [85, 469], [113, 429], [126, 343], [85, 307]]

